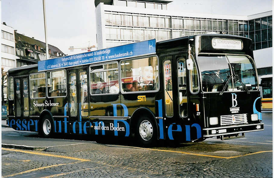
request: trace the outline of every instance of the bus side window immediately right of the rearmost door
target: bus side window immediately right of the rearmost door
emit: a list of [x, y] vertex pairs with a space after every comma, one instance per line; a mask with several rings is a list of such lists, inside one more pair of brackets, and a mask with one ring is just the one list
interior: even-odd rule
[[46, 97], [46, 74], [30, 75], [30, 98]]

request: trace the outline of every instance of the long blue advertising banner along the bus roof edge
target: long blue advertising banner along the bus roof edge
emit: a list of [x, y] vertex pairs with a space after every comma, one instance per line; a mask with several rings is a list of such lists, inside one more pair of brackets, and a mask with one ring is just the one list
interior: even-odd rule
[[156, 53], [156, 40], [147, 40], [71, 56], [38, 61], [38, 71], [93, 64]]

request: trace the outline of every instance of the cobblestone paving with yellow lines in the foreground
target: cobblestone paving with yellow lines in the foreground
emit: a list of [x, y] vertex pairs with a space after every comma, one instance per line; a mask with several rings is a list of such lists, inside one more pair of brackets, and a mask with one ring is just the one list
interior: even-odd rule
[[30, 152], [2, 149], [2, 177], [272, 177], [272, 152], [225, 159], [96, 143]]

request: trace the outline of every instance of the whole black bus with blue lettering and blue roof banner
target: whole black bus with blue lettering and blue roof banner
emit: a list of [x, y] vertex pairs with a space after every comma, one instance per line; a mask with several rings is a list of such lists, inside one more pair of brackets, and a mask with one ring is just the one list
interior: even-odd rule
[[8, 72], [8, 125], [135, 138], [238, 138], [262, 131], [251, 40], [203, 34], [39, 61]]

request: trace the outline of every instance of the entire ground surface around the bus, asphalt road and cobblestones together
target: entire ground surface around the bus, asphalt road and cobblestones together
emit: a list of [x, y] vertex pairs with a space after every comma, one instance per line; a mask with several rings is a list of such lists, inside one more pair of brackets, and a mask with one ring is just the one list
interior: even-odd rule
[[[263, 122], [264, 131], [245, 138], [156, 148], [39, 138], [36, 132], [2, 127], [2, 177], [272, 177], [272, 113], [264, 113]], [[4, 148], [12, 145], [15, 149]], [[32, 148], [41, 150], [26, 150]]]

